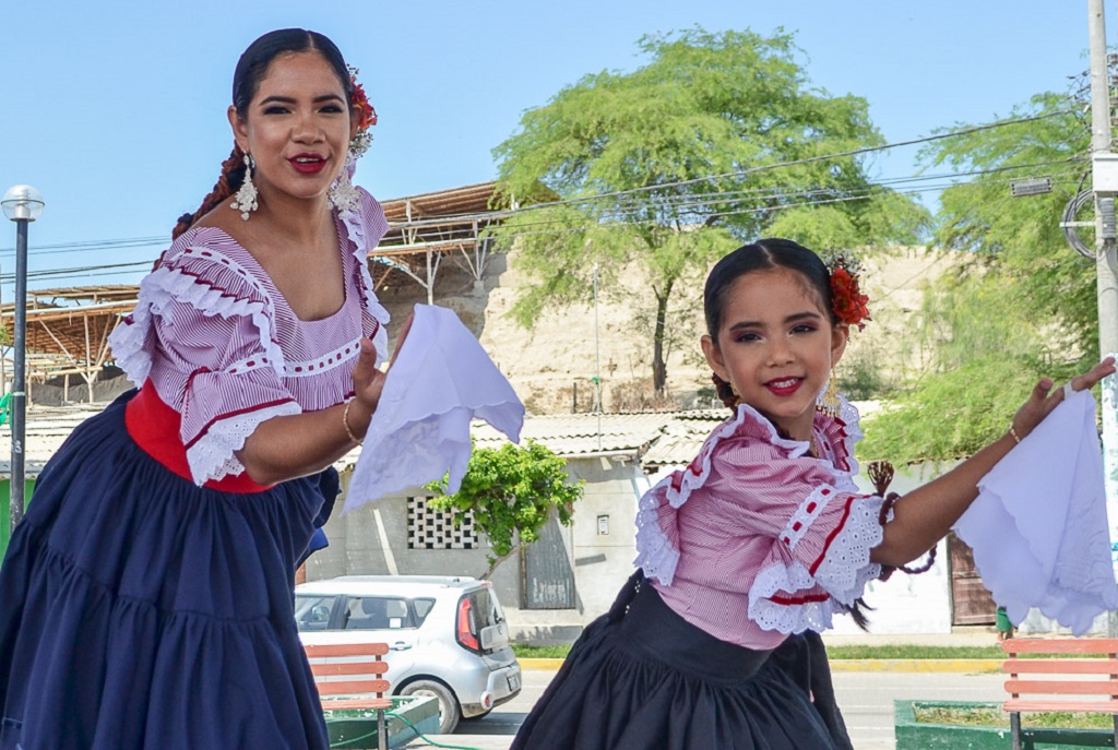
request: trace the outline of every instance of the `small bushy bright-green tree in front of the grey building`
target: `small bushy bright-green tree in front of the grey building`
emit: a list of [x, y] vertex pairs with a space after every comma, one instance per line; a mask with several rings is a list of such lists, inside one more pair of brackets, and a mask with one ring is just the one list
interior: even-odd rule
[[559, 523], [569, 526], [575, 501], [582, 496], [582, 482], [572, 484], [567, 462], [544, 446], [528, 440], [500, 448], [474, 448], [462, 486], [445, 494], [446, 481], [428, 485], [436, 493], [430, 505], [454, 511], [454, 524], [473, 511], [474, 524], [489, 539], [489, 578], [498, 566], [540, 535], [552, 509]]

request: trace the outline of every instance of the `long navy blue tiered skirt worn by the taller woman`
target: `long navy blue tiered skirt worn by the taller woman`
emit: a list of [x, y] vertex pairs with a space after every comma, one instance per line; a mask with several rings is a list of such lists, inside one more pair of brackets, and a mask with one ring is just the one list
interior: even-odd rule
[[0, 568], [0, 750], [328, 748], [293, 614], [332, 469], [197, 487], [119, 398], [39, 475]]

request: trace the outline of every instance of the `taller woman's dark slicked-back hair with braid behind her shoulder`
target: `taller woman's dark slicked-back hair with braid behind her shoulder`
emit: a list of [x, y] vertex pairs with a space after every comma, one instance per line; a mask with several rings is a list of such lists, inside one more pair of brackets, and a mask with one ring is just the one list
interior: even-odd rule
[[[237, 69], [233, 74], [233, 106], [237, 111], [237, 116], [245, 117], [248, 114], [248, 105], [256, 96], [260, 82], [264, 80], [264, 76], [267, 75], [268, 67], [275, 58], [281, 55], [293, 55], [309, 50], [322, 55], [322, 58], [333, 67], [338, 79], [341, 80], [342, 88], [345, 89], [345, 99], [349, 101], [353, 93], [353, 82], [350, 79], [349, 68], [345, 66], [345, 59], [338, 46], [318, 31], [278, 29], [268, 31], [250, 44], [240, 59], [237, 60]], [[171, 239], [178, 239], [179, 235], [192, 227], [198, 219], [240, 190], [240, 186], [245, 182], [245, 153], [239, 145], [234, 144], [233, 153], [221, 162], [221, 175], [214, 189], [202, 199], [197, 211], [187, 212], [179, 217], [178, 224], [171, 231]]]

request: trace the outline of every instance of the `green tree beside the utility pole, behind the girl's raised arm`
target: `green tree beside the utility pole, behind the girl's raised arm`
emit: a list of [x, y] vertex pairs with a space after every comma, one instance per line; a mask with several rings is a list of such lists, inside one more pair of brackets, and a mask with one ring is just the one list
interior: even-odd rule
[[[1089, 169], [1090, 131], [1069, 97], [1041, 94], [1006, 124], [928, 145], [929, 168], [972, 180], [944, 191], [936, 241], [959, 264], [926, 294], [913, 339], [931, 367], [866, 425], [859, 453], [893, 462], [969, 455], [1004, 434], [1043, 376], [1098, 358], [1095, 264], [1060, 228]], [[1010, 180], [1051, 175], [1053, 191], [1014, 198]], [[1088, 243], [1092, 240], [1088, 237]]]

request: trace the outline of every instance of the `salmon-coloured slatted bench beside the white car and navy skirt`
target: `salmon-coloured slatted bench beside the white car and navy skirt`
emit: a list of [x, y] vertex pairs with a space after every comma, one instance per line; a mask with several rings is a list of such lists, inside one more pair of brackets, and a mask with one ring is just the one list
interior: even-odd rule
[[392, 708], [385, 697], [389, 683], [383, 678], [388, 664], [379, 657], [388, 653], [387, 643], [356, 643], [329, 646], [303, 646], [311, 663], [314, 684], [324, 711], [345, 709], [377, 712], [377, 741], [388, 747], [385, 711]]

